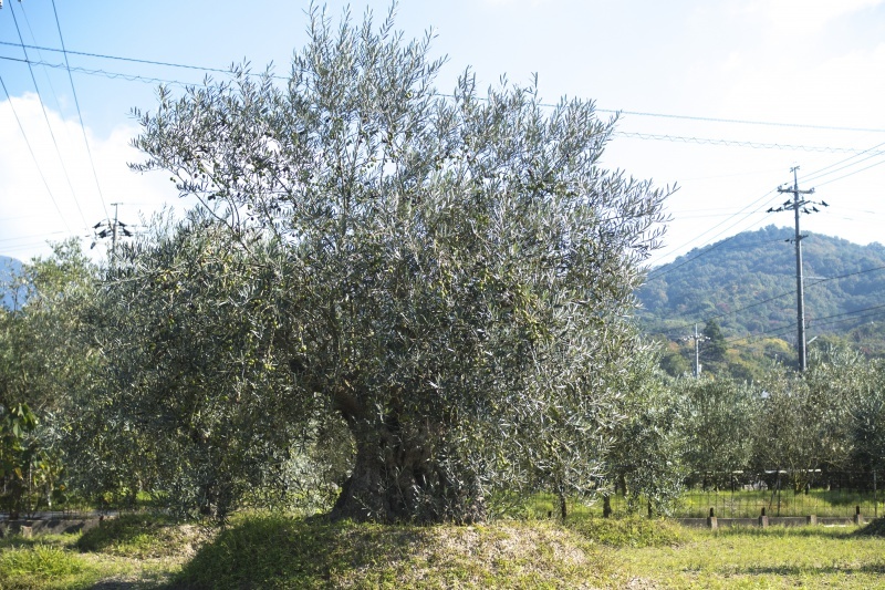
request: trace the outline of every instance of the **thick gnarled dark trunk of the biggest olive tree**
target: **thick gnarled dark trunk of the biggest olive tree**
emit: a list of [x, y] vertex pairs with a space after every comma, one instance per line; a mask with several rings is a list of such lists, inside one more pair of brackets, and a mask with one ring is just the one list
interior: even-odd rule
[[351, 476], [331, 517], [384, 522], [473, 522], [486, 516], [476, 482], [458, 474], [426, 427], [395, 418], [348, 421], [356, 441]]

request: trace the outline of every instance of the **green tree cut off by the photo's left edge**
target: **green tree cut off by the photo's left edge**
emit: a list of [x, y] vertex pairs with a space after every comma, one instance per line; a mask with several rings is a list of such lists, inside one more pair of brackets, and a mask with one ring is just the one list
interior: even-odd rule
[[0, 307], [0, 505], [11, 513], [63, 499], [65, 423], [96, 355], [83, 339], [96, 269], [76, 240], [22, 266]]

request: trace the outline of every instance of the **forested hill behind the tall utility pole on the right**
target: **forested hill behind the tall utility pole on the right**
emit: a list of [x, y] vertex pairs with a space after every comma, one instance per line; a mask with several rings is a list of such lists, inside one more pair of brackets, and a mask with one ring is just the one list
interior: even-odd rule
[[[728, 337], [794, 340], [795, 248], [792, 228], [769, 226], [695, 249], [656, 267], [638, 291], [653, 334], [685, 335], [715, 319]], [[875, 333], [885, 322], [885, 246], [858, 246], [809, 234], [802, 240], [808, 338]], [[879, 324], [885, 325], [885, 324]], [[678, 333], [677, 333], [678, 332]], [[856, 334], [855, 334], [856, 335]]]

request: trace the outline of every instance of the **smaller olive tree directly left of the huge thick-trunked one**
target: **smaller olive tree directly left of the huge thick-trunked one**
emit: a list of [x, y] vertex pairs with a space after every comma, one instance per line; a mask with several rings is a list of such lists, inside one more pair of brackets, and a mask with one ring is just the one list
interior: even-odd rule
[[104, 379], [69, 441], [84, 487], [145, 488], [176, 514], [223, 519], [284, 474], [308, 427], [295, 417], [310, 420], [277, 354], [292, 286], [273, 251], [247, 256], [228, 237], [195, 211], [118, 249], [92, 327]]

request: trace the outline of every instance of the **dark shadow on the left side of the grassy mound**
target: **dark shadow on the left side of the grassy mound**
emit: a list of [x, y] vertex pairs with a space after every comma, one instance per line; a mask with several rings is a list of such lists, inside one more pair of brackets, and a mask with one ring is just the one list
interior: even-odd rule
[[425, 539], [420, 527], [252, 516], [197, 551], [170, 588], [334, 587], [342, 576], [407, 561]]

